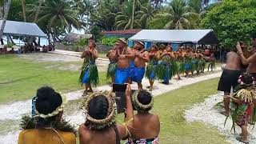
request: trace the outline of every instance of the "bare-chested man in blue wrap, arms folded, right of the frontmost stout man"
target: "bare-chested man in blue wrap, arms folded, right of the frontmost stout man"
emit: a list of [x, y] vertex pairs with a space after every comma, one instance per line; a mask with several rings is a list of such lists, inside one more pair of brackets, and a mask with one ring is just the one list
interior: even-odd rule
[[134, 72], [131, 77], [131, 80], [138, 83], [138, 89], [142, 90], [142, 78], [145, 74], [145, 66], [146, 62], [150, 61], [150, 54], [144, 49], [143, 42], [136, 42], [136, 46], [138, 47], [138, 52], [134, 53]]

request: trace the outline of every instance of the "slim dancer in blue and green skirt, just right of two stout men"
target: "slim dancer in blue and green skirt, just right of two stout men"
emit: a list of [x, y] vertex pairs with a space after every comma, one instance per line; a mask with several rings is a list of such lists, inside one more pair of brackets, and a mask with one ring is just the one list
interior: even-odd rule
[[148, 62], [146, 66], [146, 78], [149, 78], [150, 86], [147, 88], [150, 91], [153, 90], [154, 79], [157, 73], [157, 66], [158, 66], [158, 46], [153, 44], [150, 50], [150, 62]]

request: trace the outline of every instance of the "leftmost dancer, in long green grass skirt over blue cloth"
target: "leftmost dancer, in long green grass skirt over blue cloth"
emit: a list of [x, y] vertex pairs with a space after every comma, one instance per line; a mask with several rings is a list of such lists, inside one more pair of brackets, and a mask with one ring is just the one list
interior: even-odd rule
[[87, 92], [93, 92], [91, 84], [93, 84], [93, 86], [98, 85], [98, 68], [95, 64], [95, 60], [98, 58], [98, 50], [96, 50], [95, 47], [95, 42], [90, 40], [89, 49], [85, 50], [81, 55], [81, 58], [84, 58], [84, 62], [82, 64], [79, 82], [82, 85], [86, 84], [84, 95], [86, 95]]

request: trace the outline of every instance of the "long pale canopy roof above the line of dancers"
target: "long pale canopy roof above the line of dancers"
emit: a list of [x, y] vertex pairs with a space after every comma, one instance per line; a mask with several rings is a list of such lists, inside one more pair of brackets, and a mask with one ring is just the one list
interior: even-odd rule
[[129, 40], [198, 44], [218, 43], [213, 30], [141, 30]]

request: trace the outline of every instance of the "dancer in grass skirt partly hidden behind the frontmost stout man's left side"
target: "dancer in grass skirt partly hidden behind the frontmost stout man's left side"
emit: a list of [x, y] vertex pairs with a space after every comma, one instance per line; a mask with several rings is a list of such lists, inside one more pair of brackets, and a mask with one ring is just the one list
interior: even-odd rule
[[106, 57], [110, 59], [110, 64], [107, 69], [106, 78], [110, 78], [112, 80], [112, 84], [114, 83], [114, 74], [117, 70], [117, 43], [113, 46], [113, 48], [106, 54]]

